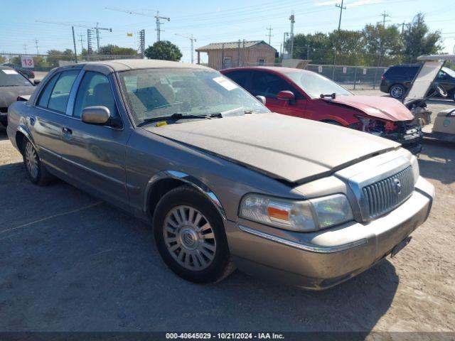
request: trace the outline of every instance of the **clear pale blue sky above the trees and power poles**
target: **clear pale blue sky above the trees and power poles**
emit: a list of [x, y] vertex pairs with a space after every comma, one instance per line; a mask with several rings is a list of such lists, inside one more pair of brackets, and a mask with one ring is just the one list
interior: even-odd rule
[[[341, 0], [230, 0], [230, 1], [152, 1], [152, 0], [1, 0], [0, 53], [45, 53], [50, 49], [73, 49], [70, 25], [75, 25], [77, 51], [87, 47], [87, 28], [99, 23], [112, 32], [100, 31], [100, 45], [115, 44], [137, 49], [139, 31], [145, 29], [146, 46], [156, 41], [155, 18], [162, 20], [161, 40], [170, 40], [183, 53], [183, 62], [191, 61], [190, 39], [193, 35], [195, 48], [208, 43], [237, 40], [264, 40], [272, 27], [271, 44], [277, 50], [283, 35], [290, 31], [289, 16], [294, 11], [294, 34], [330, 32], [338, 28]], [[417, 12], [425, 15], [432, 31], [441, 31], [444, 52], [453, 53], [455, 48], [454, 0], [343, 0], [341, 28], [361, 29], [367, 23], [382, 21], [385, 11], [386, 25], [408, 23]], [[117, 9], [114, 10], [114, 9]], [[127, 10], [140, 14], [125, 13]], [[48, 21], [42, 23], [40, 21]], [[63, 23], [63, 24], [53, 24]], [[68, 25], [68, 26], [67, 26]], [[82, 27], [81, 27], [82, 26]], [[127, 33], [133, 33], [128, 37]], [[82, 35], [82, 36], [80, 36]], [[26, 47], [24, 48], [24, 45]], [[96, 45], [96, 43], [95, 43]], [[203, 61], [207, 57], [202, 54]], [[196, 60], [196, 52], [194, 54]]]

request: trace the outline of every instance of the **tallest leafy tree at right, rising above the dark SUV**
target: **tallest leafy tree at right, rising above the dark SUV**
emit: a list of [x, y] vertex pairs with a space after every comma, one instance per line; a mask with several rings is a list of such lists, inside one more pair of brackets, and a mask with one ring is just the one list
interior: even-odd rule
[[441, 32], [430, 32], [424, 21], [424, 14], [417, 13], [403, 32], [403, 43], [405, 60], [415, 63], [419, 55], [431, 55], [441, 51]]

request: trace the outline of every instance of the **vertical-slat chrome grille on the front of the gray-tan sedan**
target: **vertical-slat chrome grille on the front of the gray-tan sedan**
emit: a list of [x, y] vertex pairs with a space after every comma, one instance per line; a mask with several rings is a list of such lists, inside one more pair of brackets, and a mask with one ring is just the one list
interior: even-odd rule
[[388, 178], [362, 188], [362, 195], [368, 202], [368, 217], [374, 219], [390, 212], [407, 200], [414, 190], [414, 175], [409, 166]]

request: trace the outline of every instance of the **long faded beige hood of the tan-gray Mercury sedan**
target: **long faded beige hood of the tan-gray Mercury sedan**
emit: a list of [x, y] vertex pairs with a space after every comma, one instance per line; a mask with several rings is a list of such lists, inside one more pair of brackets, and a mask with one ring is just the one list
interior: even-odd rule
[[353, 129], [274, 113], [145, 129], [291, 183], [328, 175], [400, 146]]

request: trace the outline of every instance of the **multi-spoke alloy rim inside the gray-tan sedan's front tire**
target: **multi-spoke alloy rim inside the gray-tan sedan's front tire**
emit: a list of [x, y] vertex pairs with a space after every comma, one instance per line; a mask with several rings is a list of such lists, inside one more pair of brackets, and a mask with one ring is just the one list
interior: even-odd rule
[[177, 206], [168, 212], [163, 234], [168, 252], [185, 269], [201, 271], [215, 259], [213, 228], [207, 218], [193, 207]]

